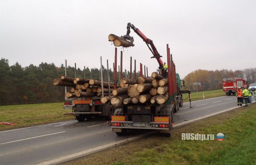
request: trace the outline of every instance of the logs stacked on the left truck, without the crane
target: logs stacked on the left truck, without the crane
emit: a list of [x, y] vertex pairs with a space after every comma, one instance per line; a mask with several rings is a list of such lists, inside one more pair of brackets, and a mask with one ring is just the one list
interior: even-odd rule
[[[108, 82], [103, 81], [103, 89], [101, 88], [101, 81], [94, 79], [82, 79], [76, 77], [76, 79], [61, 76], [60, 78], [55, 78], [53, 80], [53, 84], [56, 86], [68, 86], [70, 87], [70, 91], [65, 94], [65, 97], [98, 97], [99, 99], [102, 96], [102, 90], [104, 92], [104, 96], [108, 96]], [[118, 88], [115, 90], [116, 94], [124, 94], [122, 92], [122, 88]], [[110, 92], [114, 91], [114, 83], [110, 82]], [[111, 96], [109, 96], [111, 97]], [[110, 100], [108, 100], [110, 101]], [[107, 101], [107, 102], [108, 102]]]

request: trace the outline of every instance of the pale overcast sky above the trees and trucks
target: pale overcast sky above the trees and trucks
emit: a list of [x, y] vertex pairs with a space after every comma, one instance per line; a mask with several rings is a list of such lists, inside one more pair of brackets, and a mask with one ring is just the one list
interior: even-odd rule
[[[134, 24], [150, 38], [167, 61], [166, 44], [184, 78], [203, 70], [255, 68], [255, 0], [0, 0], [0, 58], [22, 67], [41, 62], [83, 69], [113, 70], [115, 46], [108, 35], [126, 35]], [[117, 48], [117, 65], [123, 51], [123, 70], [130, 57], [158, 68], [143, 40], [131, 30], [134, 47]]]

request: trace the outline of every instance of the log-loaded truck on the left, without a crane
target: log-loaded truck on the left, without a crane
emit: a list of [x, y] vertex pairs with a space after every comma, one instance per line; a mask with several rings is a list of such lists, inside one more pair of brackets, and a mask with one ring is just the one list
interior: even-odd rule
[[[113, 91], [113, 83], [94, 79], [82, 79], [76, 77], [76, 73], [76, 78], [70, 78], [66, 74], [67, 72], [65, 76], [54, 79], [54, 85], [66, 87], [66, 101], [63, 109], [72, 109], [72, 112], [65, 113], [64, 115], [73, 115], [78, 121], [84, 121], [96, 116], [103, 116], [105, 119], [111, 120], [115, 108], [110, 103], [102, 104], [100, 99], [102, 93]], [[69, 92], [67, 92], [68, 89]]]

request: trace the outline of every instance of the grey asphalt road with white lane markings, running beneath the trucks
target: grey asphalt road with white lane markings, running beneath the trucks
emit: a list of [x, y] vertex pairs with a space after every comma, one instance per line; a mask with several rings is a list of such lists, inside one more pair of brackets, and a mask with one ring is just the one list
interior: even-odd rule
[[[184, 103], [175, 113], [174, 125], [213, 114], [236, 105], [235, 96], [223, 96]], [[128, 136], [111, 132], [101, 118], [76, 120], [0, 132], [0, 164], [38, 164], [91, 148], [121, 141], [147, 130], [132, 131]]]

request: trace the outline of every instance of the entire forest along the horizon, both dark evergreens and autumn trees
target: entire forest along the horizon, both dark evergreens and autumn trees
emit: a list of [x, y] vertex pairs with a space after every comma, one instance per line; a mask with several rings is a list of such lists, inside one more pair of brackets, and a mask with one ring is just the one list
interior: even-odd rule
[[[103, 79], [107, 81], [107, 69], [103, 68]], [[67, 66], [67, 76], [74, 78], [75, 68]], [[64, 101], [65, 87], [54, 86], [53, 79], [65, 75], [65, 66], [55, 66], [54, 63], [41, 63], [39, 66], [30, 64], [24, 68], [16, 62], [9, 66], [8, 59], [0, 60], [0, 105], [21, 105], [35, 103], [57, 103]], [[123, 72], [123, 77], [129, 77], [129, 71]], [[77, 77], [100, 79], [100, 68], [76, 69]], [[109, 70], [110, 81], [113, 82], [113, 70]], [[139, 77], [139, 72], [136, 73]], [[196, 70], [184, 78], [187, 90], [195, 91], [193, 83], [201, 83], [198, 91], [222, 88], [222, 79], [244, 77], [248, 83], [256, 81], [256, 68], [245, 70]]]

